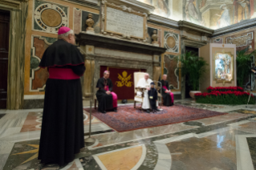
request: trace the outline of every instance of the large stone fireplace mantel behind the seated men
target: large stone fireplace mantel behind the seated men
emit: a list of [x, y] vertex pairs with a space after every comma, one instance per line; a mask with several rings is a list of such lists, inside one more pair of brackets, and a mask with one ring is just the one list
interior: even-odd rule
[[96, 84], [100, 78], [100, 67], [121, 67], [127, 69], [144, 69], [151, 79], [159, 79], [161, 75], [161, 55], [166, 49], [155, 47], [145, 42], [135, 42], [123, 38], [113, 38], [103, 34], [76, 34], [85, 56], [87, 67], [82, 79], [83, 97], [88, 99], [91, 93], [91, 83]]

